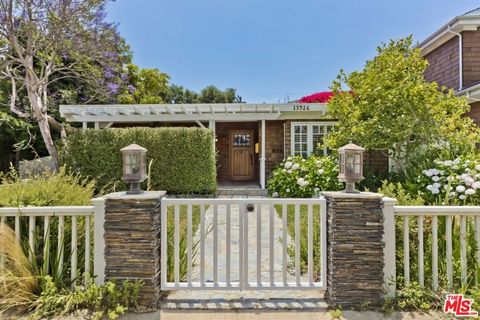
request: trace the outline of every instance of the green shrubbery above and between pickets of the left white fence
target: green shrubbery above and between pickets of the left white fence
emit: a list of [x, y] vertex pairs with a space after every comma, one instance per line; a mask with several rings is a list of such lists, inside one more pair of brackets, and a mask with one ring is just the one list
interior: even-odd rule
[[[78, 174], [66, 173], [62, 168], [58, 173], [35, 176], [31, 180], [20, 180], [12, 169], [1, 177], [0, 207], [21, 206], [74, 206], [91, 205], [94, 196], [95, 182], [87, 181]], [[33, 272], [35, 276], [50, 275], [55, 284], [61, 287], [70, 285], [71, 235], [72, 218], [65, 218], [64, 237], [61, 246], [64, 248], [63, 267], [60, 266], [60, 252], [58, 251], [58, 218], [52, 217], [49, 224], [50, 237], [44, 240], [43, 219], [37, 219], [34, 229], [34, 248], [28, 242], [28, 217], [20, 217], [20, 239], [24, 252], [35, 252]], [[13, 218], [7, 219], [7, 225], [14, 228]], [[85, 266], [85, 218], [79, 217], [78, 223], [78, 270], [84, 272]], [[93, 219], [90, 221], [93, 226]], [[90, 230], [93, 232], [93, 227]], [[90, 235], [93, 238], [93, 233]], [[93, 244], [92, 244], [93, 245]], [[92, 250], [91, 250], [92, 252]], [[48, 253], [48, 259], [46, 258]], [[27, 254], [28, 255], [28, 254]]]

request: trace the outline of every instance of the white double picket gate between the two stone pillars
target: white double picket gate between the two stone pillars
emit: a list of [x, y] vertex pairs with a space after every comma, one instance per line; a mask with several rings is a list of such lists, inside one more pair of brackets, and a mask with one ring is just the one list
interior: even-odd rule
[[326, 201], [161, 200], [161, 289], [326, 288]]

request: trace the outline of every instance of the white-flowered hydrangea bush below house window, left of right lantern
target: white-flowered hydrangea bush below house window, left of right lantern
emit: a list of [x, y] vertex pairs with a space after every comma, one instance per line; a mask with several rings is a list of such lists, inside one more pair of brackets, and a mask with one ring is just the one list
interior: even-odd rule
[[288, 157], [273, 170], [267, 188], [274, 197], [311, 198], [320, 191], [341, 190], [343, 184], [337, 177], [338, 164], [333, 157]]

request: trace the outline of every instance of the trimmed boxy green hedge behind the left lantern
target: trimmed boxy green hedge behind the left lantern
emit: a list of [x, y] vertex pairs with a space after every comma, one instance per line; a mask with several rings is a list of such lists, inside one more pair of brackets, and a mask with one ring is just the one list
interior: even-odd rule
[[148, 149], [147, 166], [153, 160], [152, 190], [208, 194], [217, 184], [213, 139], [201, 128], [74, 129], [58, 146], [59, 160], [94, 178], [100, 190], [125, 190], [120, 149], [137, 143]]

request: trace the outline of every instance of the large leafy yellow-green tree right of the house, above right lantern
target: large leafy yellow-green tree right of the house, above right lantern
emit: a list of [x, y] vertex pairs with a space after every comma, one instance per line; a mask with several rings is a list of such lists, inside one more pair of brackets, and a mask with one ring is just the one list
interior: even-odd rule
[[391, 150], [400, 160], [429, 146], [472, 150], [479, 129], [464, 116], [470, 108], [466, 99], [424, 79], [428, 62], [412, 38], [392, 40], [377, 51], [362, 71], [341, 72], [333, 82], [328, 107], [338, 123], [328, 146], [354, 141], [366, 149]]

